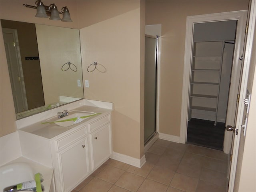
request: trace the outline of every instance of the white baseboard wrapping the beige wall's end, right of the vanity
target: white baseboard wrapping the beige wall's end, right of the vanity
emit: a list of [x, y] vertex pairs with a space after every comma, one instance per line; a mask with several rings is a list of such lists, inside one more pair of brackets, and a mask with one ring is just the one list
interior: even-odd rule
[[110, 158], [132, 165], [134, 167], [138, 167], [141, 168], [145, 163], [146, 163], [146, 157], [145, 155], [142, 156], [141, 159], [136, 159], [124, 154], [120, 154], [120, 153], [116, 153], [116, 152], [112, 152], [112, 155], [110, 156]]

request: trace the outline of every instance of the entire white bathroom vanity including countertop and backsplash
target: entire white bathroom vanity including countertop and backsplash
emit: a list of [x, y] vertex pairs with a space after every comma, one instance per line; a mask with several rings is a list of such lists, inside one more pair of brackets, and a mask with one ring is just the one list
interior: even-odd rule
[[[72, 111], [95, 115], [71, 126], [53, 123], [64, 110], [70, 112], [68, 118]], [[22, 155], [53, 168], [54, 192], [71, 192], [110, 158], [112, 110], [112, 103], [84, 99], [20, 119], [16, 124]]]

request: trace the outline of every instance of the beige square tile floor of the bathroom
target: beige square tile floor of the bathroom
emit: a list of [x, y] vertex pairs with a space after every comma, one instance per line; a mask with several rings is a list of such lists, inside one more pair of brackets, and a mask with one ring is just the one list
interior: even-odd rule
[[158, 139], [142, 168], [109, 159], [72, 192], [226, 192], [228, 156]]

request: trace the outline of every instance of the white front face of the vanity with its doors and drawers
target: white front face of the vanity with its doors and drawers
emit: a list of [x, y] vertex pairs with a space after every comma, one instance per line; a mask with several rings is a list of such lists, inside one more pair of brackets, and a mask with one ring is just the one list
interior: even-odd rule
[[81, 123], [51, 141], [57, 192], [70, 192], [112, 153], [110, 113]]

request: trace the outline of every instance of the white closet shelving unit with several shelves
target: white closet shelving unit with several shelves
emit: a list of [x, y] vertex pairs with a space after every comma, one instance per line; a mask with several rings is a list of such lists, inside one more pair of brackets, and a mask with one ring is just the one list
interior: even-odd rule
[[223, 48], [223, 41], [193, 43], [188, 120], [198, 113], [217, 123]]

